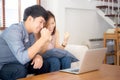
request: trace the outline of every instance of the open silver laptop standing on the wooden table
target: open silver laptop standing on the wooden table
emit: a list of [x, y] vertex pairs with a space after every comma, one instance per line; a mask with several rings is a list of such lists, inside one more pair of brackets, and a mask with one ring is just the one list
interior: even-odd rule
[[81, 55], [80, 65], [78, 68], [68, 68], [60, 71], [80, 74], [99, 70], [100, 66], [103, 64], [106, 52], [107, 48], [89, 49], [86, 53]]

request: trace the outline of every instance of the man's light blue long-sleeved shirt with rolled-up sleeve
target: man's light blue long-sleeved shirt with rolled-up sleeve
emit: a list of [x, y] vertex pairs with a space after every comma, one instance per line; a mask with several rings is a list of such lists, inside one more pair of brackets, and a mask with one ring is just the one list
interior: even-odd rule
[[33, 34], [28, 34], [24, 23], [13, 24], [0, 36], [0, 69], [4, 64], [30, 61], [28, 48], [33, 44]]

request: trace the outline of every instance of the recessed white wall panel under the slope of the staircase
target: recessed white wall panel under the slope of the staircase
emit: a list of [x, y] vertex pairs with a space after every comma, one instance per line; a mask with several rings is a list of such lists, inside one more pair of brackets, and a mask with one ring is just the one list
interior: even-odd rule
[[66, 9], [65, 31], [71, 33], [70, 43], [85, 44], [89, 39], [102, 38], [107, 26], [95, 10]]

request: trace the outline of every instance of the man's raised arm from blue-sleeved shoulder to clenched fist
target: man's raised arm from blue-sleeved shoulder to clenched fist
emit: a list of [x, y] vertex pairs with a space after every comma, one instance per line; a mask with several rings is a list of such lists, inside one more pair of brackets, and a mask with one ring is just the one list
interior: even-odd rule
[[21, 64], [26, 64], [34, 58], [39, 50], [42, 49], [44, 43], [49, 40], [50, 32], [48, 30], [43, 29], [41, 34], [41, 38], [39, 38], [39, 40], [28, 49], [24, 45], [27, 39], [23, 39], [25, 34], [23, 34], [22, 27], [12, 25], [2, 33], [1, 37], [7, 42], [7, 45], [14, 55], [13, 57], [15, 57]]

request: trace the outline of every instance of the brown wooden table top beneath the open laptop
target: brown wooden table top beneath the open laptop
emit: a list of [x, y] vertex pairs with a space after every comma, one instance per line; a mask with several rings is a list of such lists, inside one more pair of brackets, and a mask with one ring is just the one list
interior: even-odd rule
[[103, 64], [100, 70], [79, 75], [57, 71], [19, 80], [120, 80], [120, 66]]

